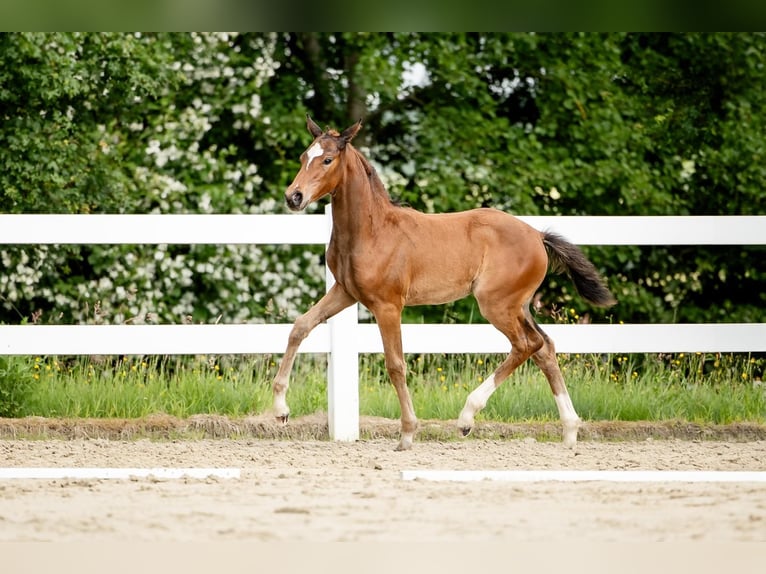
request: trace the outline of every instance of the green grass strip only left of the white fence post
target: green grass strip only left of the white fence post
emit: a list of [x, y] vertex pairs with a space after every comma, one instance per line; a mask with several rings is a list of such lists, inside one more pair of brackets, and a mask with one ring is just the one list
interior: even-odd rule
[[[274, 359], [266, 355], [15, 360], [16, 368], [25, 369], [27, 379], [33, 377], [35, 384], [5, 416], [245, 416], [271, 406], [270, 381], [276, 368]], [[325, 363], [323, 357], [303, 357], [296, 365], [290, 400], [294, 415], [326, 410]]]

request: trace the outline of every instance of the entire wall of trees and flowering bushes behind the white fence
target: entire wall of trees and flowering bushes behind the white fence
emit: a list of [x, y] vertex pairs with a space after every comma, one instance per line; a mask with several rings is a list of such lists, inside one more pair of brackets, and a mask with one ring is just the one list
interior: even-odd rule
[[[279, 212], [308, 111], [337, 128], [362, 117], [358, 143], [392, 195], [425, 211], [758, 214], [765, 39], [2, 34], [0, 210]], [[588, 309], [552, 276], [543, 309], [763, 321], [762, 247], [587, 254], [620, 304]], [[0, 246], [0, 319], [291, 319], [323, 291], [320, 257], [318, 247]], [[470, 298], [405, 318], [480, 320]]]

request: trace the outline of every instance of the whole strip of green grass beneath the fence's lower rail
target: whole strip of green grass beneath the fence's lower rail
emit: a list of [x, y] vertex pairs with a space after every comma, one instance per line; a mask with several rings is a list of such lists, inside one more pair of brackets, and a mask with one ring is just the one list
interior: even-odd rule
[[[409, 356], [408, 384], [418, 417], [455, 419], [468, 393], [502, 358]], [[237, 417], [271, 407], [277, 361], [270, 356], [9, 357], [7, 368], [0, 371], [0, 390], [13, 385], [23, 390], [14, 394], [14, 416]], [[766, 365], [763, 357], [562, 355], [560, 363], [575, 407], [585, 420], [766, 422], [766, 386], [760, 382]], [[399, 403], [381, 356], [362, 357], [359, 395], [362, 415], [399, 417]], [[326, 411], [324, 357], [298, 357], [288, 403], [294, 416]], [[556, 421], [558, 412], [545, 378], [528, 362], [498, 388], [479, 418]]]

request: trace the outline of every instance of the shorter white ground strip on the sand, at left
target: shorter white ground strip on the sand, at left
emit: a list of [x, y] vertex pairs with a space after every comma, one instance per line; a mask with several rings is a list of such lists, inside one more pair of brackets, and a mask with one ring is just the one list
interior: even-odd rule
[[0, 468], [0, 479], [58, 478], [239, 478], [238, 468]]

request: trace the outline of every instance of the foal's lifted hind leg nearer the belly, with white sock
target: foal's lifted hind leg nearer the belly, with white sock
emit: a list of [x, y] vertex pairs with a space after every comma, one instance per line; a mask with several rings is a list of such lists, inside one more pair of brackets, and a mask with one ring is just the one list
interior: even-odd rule
[[[479, 302], [481, 305], [481, 302]], [[457, 426], [467, 436], [474, 425], [474, 417], [483, 409], [495, 389], [526, 361], [532, 353], [543, 346], [542, 335], [534, 328], [526, 314], [519, 309], [510, 317], [494, 316], [482, 309], [484, 316], [511, 341], [511, 353], [481, 385], [474, 389], [465, 401], [457, 420]]]

